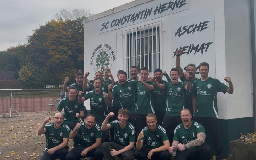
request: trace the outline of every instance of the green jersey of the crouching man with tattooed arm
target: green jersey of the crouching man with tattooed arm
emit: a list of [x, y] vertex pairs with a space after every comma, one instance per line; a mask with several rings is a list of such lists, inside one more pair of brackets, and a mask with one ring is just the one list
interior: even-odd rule
[[[197, 139], [197, 134], [200, 132], [205, 133], [204, 126], [198, 122], [191, 120], [191, 126], [189, 129], [185, 129], [183, 123], [180, 123], [174, 129], [173, 140], [180, 142], [181, 144], [187, 144], [195, 139]], [[195, 148], [195, 147], [193, 147]]]

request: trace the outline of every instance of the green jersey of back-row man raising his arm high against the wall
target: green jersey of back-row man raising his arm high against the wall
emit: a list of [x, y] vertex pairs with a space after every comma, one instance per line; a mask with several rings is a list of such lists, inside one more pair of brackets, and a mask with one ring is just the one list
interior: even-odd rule
[[[187, 83], [187, 80], [186, 80], [185, 76], [182, 76], [180, 78], [180, 80], [182, 82], [184, 82], [184, 83]], [[194, 79], [194, 80], [190, 80], [191, 88], [190, 88], [189, 91], [184, 92], [184, 108], [187, 108], [191, 112], [191, 114], [193, 112], [193, 106], [192, 106], [192, 97], [193, 97], [193, 95], [192, 95], [192, 84], [193, 84], [193, 82], [195, 80], [197, 80], [197, 78]]]

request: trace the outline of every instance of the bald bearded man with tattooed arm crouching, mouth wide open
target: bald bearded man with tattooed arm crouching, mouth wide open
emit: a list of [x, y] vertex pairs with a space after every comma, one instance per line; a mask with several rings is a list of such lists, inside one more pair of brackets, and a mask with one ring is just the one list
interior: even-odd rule
[[191, 120], [192, 115], [188, 109], [183, 109], [180, 117], [182, 123], [174, 130], [173, 142], [172, 146], [169, 147], [169, 153], [172, 154], [177, 151], [175, 160], [210, 160], [210, 147], [204, 143], [204, 127], [200, 123]]

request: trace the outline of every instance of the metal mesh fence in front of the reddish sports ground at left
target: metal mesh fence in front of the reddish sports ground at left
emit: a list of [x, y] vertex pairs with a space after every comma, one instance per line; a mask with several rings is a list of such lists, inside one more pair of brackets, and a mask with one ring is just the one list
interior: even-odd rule
[[[0, 114], [12, 106], [17, 112], [48, 111], [62, 89], [0, 89]], [[53, 108], [56, 110], [56, 108]], [[10, 111], [7, 111], [7, 113]]]

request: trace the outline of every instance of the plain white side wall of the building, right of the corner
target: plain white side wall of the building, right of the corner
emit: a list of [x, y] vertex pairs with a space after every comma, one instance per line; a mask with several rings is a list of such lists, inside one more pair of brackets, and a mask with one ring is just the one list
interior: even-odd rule
[[248, 0], [225, 0], [226, 75], [234, 84], [234, 93], [226, 95], [227, 119], [252, 117], [252, 61], [250, 3]]

